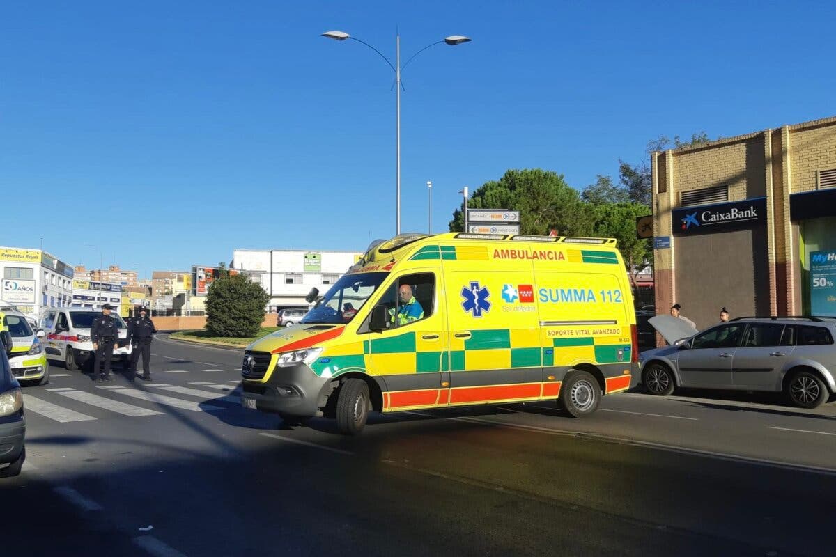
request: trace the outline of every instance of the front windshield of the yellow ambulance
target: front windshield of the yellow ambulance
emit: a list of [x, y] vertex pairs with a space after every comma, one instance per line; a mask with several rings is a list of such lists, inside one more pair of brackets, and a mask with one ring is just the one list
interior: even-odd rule
[[302, 318], [302, 323], [348, 323], [389, 273], [344, 275]]

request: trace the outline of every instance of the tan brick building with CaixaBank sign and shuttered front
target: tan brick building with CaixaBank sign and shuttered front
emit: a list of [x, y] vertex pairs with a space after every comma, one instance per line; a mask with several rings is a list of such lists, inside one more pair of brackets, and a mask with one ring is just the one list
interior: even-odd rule
[[697, 327], [722, 306], [836, 316], [836, 118], [656, 152], [651, 165], [657, 311], [679, 303]]

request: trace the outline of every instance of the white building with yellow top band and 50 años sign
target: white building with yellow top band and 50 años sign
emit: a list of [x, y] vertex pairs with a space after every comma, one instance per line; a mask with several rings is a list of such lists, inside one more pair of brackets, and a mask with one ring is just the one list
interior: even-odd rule
[[47, 307], [73, 299], [73, 266], [43, 250], [0, 246], [0, 300], [38, 320]]

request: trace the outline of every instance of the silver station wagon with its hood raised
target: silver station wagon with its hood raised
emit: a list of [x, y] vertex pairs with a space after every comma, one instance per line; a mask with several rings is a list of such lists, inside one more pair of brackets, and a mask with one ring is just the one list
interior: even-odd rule
[[784, 392], [800, 408], [816, 408], [836, 392], [836, 318], [740, 317], [695, 332], [671, 316], [650, 324], [671, 346], [640, 356], [650, 393], [676, 387]]

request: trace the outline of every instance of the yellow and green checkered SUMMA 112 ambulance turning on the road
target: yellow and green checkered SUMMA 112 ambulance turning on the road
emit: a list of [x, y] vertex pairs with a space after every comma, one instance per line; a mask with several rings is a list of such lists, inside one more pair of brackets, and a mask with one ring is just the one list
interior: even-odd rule
[[402, 234], [308, 301], [298, 326], [247, 347], [245, 408], [348, 434], [370, 411], [556, 399], [580, 418], [637, 372], [612, 239]]

